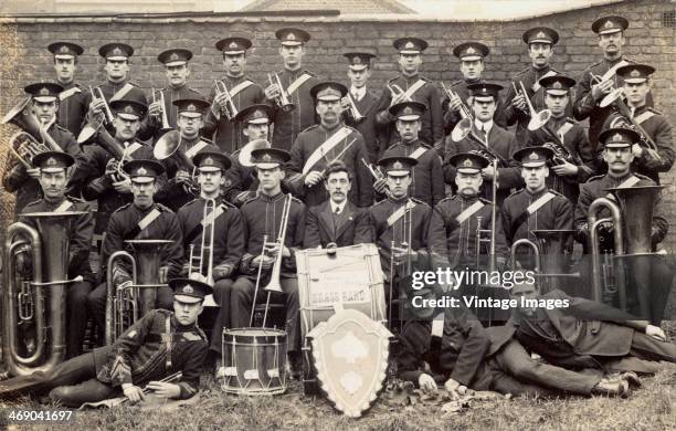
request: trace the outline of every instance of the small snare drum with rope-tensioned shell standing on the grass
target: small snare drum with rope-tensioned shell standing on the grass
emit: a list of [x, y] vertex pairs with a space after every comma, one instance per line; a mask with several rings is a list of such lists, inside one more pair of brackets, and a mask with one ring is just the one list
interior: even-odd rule
[[286, 391], [286, 333], [266, 328], [223, 329], [223, 390], [236, 395]]

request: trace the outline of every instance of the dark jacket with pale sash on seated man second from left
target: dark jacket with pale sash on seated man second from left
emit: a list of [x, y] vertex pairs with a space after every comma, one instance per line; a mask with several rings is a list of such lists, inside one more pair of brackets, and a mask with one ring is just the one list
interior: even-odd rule
[[[138, 227], [150, 211], [158, 210], [160, 216], [156, 218], [146, 229]], [[179, 219], [169, 208], [154, 203], [149, 208], [141, 210], [134, 203], [128, 203], [116, 210], [108, 221], [105, 240], [101, 250], [101, 274], [106, 274], [106, 266], [110, 254], [118, 250], [125, 250], [135, 255], [134, 248], [125, 241], [128, 240], [169, 240], [172, 241], [160, 249], [160, 267], [168, 267], [167, 278], [177, 277], [183, 263], [183, 235]], [[126, 262], [117, 262], [117, 266], [126, 271]], [[129, 271], [126, 271], [130, 273]]]

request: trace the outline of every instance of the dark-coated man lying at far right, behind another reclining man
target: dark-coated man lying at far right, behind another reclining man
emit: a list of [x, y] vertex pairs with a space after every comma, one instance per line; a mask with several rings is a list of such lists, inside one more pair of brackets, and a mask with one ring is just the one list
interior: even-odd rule
[[518, 299], [510, 320], [516, 339], [551, 365], [647, 372], [649, 361], [676, 362], [676, 345], [647, 320], [559, 290], [540, 296], [528, 281], [515, 283], [511, 295]]

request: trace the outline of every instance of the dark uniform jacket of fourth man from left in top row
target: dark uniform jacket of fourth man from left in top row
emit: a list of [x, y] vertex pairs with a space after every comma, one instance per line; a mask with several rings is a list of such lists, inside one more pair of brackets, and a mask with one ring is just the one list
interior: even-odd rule
[[[263, 93], [263, 88], [246, 75], [237, 77], [225, 75], [220, 80], [221, 83], [225, 84], [229, 92], [245, 81], [250, 81], [252, 84], [237, 92], [234, 96], [231, 95], [237, 112], [254, 104], [265, 103], [265, 93]], [[213, 103], [214, 98], [215, 84], [211, 87], [207, 99]], [[228, 116], [223, 114], [216, 118], [212, 111], [209, 111], [207, 114], [202, 135], [212, 139], [221, 150], [228, 151], [229, 154], [234, 153], [246, 144], [246, 137], [242, 134], [242, 125], [240, 123], [228, 119]]]

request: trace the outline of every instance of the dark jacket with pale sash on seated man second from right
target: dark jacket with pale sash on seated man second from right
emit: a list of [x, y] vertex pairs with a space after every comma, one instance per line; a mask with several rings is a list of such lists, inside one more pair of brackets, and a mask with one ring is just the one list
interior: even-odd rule
[[[529, 213], [527, 208], [546, 193], [553, 195], [553, 198]], [[573, 207], [563, 195], [547, 188], [531, 193], [524, 188], [503, 202], [503, 225], [507, 243], [513, 244], [524, 238], [534, 241], [534, 230], [572, 229], [572, 214]]]

